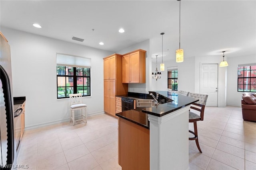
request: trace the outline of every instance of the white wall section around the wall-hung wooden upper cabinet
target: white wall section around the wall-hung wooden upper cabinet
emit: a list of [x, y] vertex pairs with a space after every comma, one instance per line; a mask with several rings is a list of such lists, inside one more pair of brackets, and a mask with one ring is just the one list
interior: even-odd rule
[[141, 43], [132, 45], [126, 49], [122, 49], [118, 51], [118, 54], [126, 54], [131, 51], [135, 51], [137, 49], [142, 49], [147, 51], [146, 52], [146, 83], [130, 83], [128, 84], [128, 92], [136, 92], [136, 93], [148, 93], [151, 90], [151, 51], [150, 51], [150, 39], [142, 41]]

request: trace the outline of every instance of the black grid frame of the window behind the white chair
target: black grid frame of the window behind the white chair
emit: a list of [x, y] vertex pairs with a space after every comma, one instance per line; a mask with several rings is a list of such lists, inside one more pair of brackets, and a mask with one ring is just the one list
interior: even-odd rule
[[[58, 66], [63, 66], [63, 65], [58, 65], [58, 64], [56, 64], [56, 69], [57, 69], [57, 67]], [[58, 72], [56, 72], [56, 78], [57, 78], [57, 80], [56, 80], [56, 84], [57, 84], [57, 99], [65, 99], [65, 98], [69, 98], [69, 94], [74, 94], [74, 92], [76, 92], [77, 93], [77, 89], [78, 89], [78, 86], [77, 86], [77, 78], [79, 78], [79, 77], [81, 77], [82, 79], [83, 79], [83, 81], [84, 81], [84, 78], [89, 78], [89, 86], [87, 85], [87, 83], [86, 83], [86, 85], [84, 84], [84, 82], [83, 82], [83, 93], [82, 93], [82, 97], [86, 97], [86, 96], [91, 96], [91, 68], [87, 68], [87, 67], [81, 67], [81, 66], [64, 66], [65, 67], [65, 73], [64, 74], [61, 74], [61, 75], [59, 75], [58, 74]], [[71, 68], [73, 68], [73, 75], [68, 75], [67, 74], [67, 72], [66, 72], [66, 70], [68, 70], [68, 68], [67, 67], [71, 67]], [[79, 76], [79, 75], [76, 75], [76, 72], [77, 72], [77, 68], [83, 68], [83, 70], [82, 70], [82, 72], [84, 72], [84, 69], [86, 68], [86, 69], [89, 69], [89, 75], [82, 75], [82, 76]], [[58, 77], [64, 77], [65, 78], [65, 86], [58, 86]], [[69, 79], [69, 78], [73, 78], [73, 86], [67, 86], [67, 78]], [[87, 79], [86, 79], [86, 81], [87, 81]], [[73, 92], [72, 93], [68, 93], [67, 94], [67, 88], [68, 87], [73, 87]], [[89, 94], [88, 95], [84, 95], [84, 87], [87, 87], [87, 89], [88, 89], [88, 87], [89, 87]], [[65, 94], [65, 97], [59, 97], [58, 96], [58, 88], [65, 88], [65, 92], [64, 92], [64, 94]], [[88, 90], [87, 90], [87, 92], [88, 92]]]

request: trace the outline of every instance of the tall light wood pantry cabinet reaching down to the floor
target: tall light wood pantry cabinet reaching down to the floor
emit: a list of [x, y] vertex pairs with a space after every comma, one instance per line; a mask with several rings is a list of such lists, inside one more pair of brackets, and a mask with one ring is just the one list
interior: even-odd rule
[[104, 59], [104, 111], [116, 115], [116, 95], [128, 93], [128, 84], [122, 83], [122, 55], [113, 54]]

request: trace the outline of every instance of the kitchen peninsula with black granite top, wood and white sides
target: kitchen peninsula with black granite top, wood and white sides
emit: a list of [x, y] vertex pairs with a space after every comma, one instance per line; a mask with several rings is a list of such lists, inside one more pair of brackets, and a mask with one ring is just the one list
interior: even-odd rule
[[[197, 99], [155, 91], [171, 102], [116, 113], [122, 170], [187, 170], [188, 111]], [[129, 97], [129, 96], [128, 96]]]

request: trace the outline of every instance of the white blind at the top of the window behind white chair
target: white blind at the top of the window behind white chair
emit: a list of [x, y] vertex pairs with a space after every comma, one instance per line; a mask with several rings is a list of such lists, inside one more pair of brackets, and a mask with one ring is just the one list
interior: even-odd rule
[[86, 57], [57, 53], [56, 64], [61, 66], [91, 68], [91, 59]]

